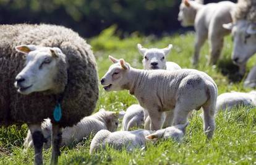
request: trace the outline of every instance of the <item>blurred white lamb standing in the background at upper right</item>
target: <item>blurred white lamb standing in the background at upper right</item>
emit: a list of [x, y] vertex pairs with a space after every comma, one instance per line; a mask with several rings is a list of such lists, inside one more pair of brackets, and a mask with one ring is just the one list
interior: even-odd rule
[[222, 27], [232, 22], [231, 11], [235, 4], [230, 1], [201, 4], [198, 1], [182, 0], [178, 20], [183, 27], [195, 27], [195, 53], [193, 64], [198, 63], [200, 49], [209, 40], [210, 64], [216, 64], [223, 48], [224, 36], [231, 31]]

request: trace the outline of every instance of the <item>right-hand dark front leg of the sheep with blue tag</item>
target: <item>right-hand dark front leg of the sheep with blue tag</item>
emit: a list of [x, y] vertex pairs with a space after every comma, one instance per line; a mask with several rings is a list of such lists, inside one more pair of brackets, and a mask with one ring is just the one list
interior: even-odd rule
[[62, 140], [62, 128], [59, 125], [53, 124], [53, 134], [51, 135], [51, 164], [58, 164], [58, 156], [61, 155], [59, 148]]

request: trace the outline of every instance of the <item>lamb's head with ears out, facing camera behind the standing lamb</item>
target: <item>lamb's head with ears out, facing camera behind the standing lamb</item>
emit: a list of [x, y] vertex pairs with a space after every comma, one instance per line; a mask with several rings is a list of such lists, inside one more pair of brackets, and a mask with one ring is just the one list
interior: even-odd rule
[[167, 48], [143, 48], [141, 44], [137, 44], [140, 54], [143, 56], [143, 68], [147, 70], [151, 69], [166, 69], [166, 56], [173, 48], [173, 44], [169, 44]]

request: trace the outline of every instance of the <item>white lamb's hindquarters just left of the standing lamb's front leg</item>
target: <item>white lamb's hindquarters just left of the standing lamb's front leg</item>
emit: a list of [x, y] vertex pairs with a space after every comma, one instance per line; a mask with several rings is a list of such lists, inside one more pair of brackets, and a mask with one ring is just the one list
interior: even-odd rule
[[130, 130], [132, 127], [143, 127], [144, 108], [139, 104], [132, 104], [127, 108], [122, 119], [122, 130]]

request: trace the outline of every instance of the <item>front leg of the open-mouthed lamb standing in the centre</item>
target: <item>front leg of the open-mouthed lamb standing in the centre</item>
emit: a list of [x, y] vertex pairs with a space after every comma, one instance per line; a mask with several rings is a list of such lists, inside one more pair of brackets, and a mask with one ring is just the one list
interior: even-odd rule
[[161, 129], [161, 114], [158, 109], [150, 109], [148, 115], [150, 117], [150, 130], [159, 130]]

